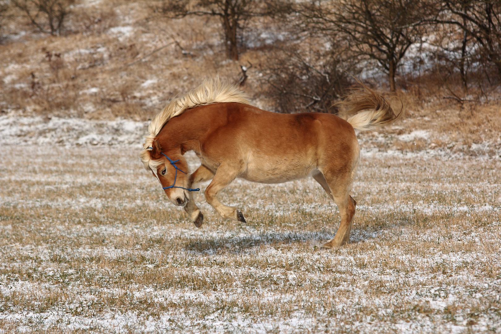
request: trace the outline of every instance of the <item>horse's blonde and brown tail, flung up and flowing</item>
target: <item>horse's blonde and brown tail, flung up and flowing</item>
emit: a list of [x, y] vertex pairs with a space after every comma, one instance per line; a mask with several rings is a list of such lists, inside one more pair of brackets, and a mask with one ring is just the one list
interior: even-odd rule
[[388, 100], [360, 81], [358, 83], [362, 89], [353, 91], [343, 101], [335, 104], [344, 107], [342, 114], [348, 117], [347, 121], [353, 128], [367, 130], [375, 125], [391, 123], [402, 115], [403, 106], [396, 114]]

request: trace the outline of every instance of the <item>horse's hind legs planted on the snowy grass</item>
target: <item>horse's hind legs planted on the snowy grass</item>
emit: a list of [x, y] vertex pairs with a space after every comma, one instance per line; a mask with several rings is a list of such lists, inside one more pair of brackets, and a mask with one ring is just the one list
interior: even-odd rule
[[357, 202], [349, 194], [354, 173], [345, 173], [347, 174], [345, 175], [346, 177], [329, 177], [329, 174], [327, 174], [327, 178], [323, 174], [319, 174], [314, 174], [313, 177], [320, 183], [327, 194], [334, 199], [341, 216], [341, 223], [336, 235], [333, 239], [324, 243], [322, 247], [336, 248], [347, 243], [350, 239], [353, 216], [355, 215], [355, 207], [357, 205]]

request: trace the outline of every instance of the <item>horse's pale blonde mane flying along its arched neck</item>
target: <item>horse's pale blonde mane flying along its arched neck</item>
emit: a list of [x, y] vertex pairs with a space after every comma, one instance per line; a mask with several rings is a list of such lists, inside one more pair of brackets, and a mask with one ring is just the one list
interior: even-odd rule
[[156, 170], [161, 164], [161, 160], [152, 160], [150, 149], [153, 139], [160, 133], [162, 127], [172, 117], [179, 116], [187, 109], [197, 106], [204, 106], [212, 103], [238, 102], [249, 104], [247, 94], [240, 91], [238, 86], [221, 82], [219, 76], [216, 78], [205, 79], [203, 83], [195, 89], [192, 89], [183, 96], [176, 97], [159, 112], [148, 126], [149, 135], [143, 144], [144, 149], [139, 154], [145, 169]]

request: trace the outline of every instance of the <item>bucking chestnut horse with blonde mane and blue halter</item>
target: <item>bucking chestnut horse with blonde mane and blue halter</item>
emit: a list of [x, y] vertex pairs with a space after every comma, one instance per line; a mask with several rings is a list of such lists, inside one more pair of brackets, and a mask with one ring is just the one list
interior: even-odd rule
[[[349, 194], [360, 159], [354, 129], [389, 123], [400, 115], [365, 86], [343, 103], [347, 120], [323, 113], [279, 114], [250, 105], [234, 85], [208, 79], [155, 116], [140, 158], [196, 227], [203, 214], [192, 195], [199, 189], [192, 187], [200, 182], [212, 179], [205, 200], [221, 217], [245, 223], [240, 209], [217, 198], [235, 178], [281, 183], [312, 176], [341, 216], [336, 235], [322, 247], [339, 247], [349, 240], [357, 204]], [[183, 155], [191, 150], [201, 165], [190, 174]]]

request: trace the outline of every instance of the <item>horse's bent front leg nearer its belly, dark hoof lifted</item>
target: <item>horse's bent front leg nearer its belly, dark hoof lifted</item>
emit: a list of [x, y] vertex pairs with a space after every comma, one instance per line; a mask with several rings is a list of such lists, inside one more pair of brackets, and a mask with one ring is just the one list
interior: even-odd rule
[[242, 223], [246, 223], [240, 209], [234, 206], [227, 206], [222, 204], [217, 198], [217, 193], [224, 189], [228, 184], [233, 181], [238, 175], [239, 168], [222, 163], [216, 171], [212, 182], [210, 182], [207, 189], [205, 189], [205, 200], [216, 209], [217, 213], [223, 218], [229, 218]]

